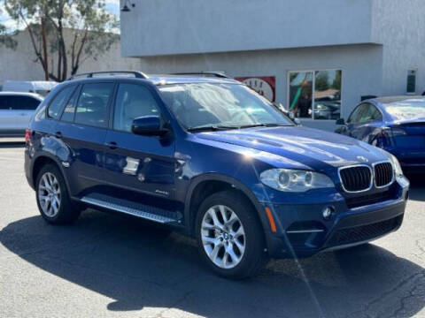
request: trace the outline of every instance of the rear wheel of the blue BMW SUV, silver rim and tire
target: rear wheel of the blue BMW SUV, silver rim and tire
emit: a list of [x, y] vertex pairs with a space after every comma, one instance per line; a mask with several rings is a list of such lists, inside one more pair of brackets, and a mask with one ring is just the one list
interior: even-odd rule
[[38, 173], [35, 198], [40, 214], [48, 223], [73, 223], [81, 214], [81, 208], [70, 200], [65, 179], [54, 164], [46, 164]]

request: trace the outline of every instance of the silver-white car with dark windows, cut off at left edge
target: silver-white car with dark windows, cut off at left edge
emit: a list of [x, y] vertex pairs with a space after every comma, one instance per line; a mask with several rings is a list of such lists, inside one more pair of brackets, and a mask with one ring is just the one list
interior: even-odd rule
[[0, 92], [0, 136], [24, 136], [42, 100], [42, 95], [35, 93]]

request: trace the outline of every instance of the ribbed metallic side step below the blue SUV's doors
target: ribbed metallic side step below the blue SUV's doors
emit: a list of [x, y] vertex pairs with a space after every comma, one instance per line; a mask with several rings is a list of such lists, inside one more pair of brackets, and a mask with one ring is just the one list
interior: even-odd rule
[[[107, 208], [113, 211], [118, 211], [131, 216], [138, 216], [146, 220], [150, 220], [158, 223], [180, 223], [179, 213], [166, 211], [160, 208], [153, 208], [144, 206], [142, 204], [136, 204], [134, 202], [124, 201], [106, 195], [89, 195], [81, 198], [81, 202], [88, 203], [90, 205]], [[151, 210], [151, 212], [145, 212]], [[158, 212], [152, 213], [152, 212]]]

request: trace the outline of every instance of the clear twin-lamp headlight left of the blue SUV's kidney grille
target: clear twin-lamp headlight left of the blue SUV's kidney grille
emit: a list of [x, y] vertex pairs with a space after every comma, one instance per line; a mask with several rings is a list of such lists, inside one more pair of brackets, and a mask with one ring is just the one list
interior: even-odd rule
[[328, 176], [307, 170], [271, 169], [263, 171], [259, 178], [266, 186], [290, 193], [335, 186]]

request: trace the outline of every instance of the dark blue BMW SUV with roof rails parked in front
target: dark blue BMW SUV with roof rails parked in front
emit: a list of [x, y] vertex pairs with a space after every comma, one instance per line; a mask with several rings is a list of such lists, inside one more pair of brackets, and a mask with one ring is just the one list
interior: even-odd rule
[[26, 134], [27, 180], [48, 223], [88, 207], [163, 223], [236, 278], [402, 223], [409, 183], [393, 155], [294, 125], [236, 80], [82, 75], [52, 90]]

